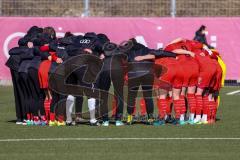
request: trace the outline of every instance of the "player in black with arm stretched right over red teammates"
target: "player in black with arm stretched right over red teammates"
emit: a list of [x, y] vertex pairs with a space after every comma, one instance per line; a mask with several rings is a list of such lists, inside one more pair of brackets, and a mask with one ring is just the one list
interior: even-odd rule
[[153, 124], [153, 99], [152, 90], [154, 83], [154, 59], [155, 56], [174, 57], [176, 54], [165, 52], [163, 50], [153, 50], [138, 43], [134, 38], [130, 39], [133, 47], [128, 52], [128, 100], [127, 124], [133, 122], [133, 112], [135, 108], [135, 99], [139, 87], [142, 87], [142, 93], [146, 102], [147, 124]]

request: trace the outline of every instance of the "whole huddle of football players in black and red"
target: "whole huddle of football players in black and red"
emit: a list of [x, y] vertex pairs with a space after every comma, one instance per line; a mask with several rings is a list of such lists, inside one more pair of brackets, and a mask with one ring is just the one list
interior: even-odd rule
[[[203, 35], [204, 29], [200, 31]], [[135, 38], [121, 44], [94, 32], [66, 32], [59, 38], [52, 27], [33, 26], [18, 45], [10, 49], [6, 63], [12, 75], [16, 124], [75, 125], [83, 119], [86, 97], [91, 126], [109, 126], [110, 111], [116, 126], [131, 125], [138, 92], [143, 95], [140, 108], [147, 125], [216, 121], [223, 76], [218, 63], [221, 57], [198, 39], [177, 38], [163, 49], [150, 49]], [[57, 76], [63, 70], [65, 79]], [[109, 104], [111, 86], [115, 103]]]

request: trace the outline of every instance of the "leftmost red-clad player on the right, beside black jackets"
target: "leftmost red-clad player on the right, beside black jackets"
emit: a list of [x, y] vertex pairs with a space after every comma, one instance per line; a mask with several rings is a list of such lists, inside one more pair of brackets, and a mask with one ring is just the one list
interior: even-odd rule
[[[165, 48], [165, 51], [171, 51], [179, 56], [182, 54], [183, 56], [189, 55], [194, 56], [194, 53], [175, 48], [174, 45], [168, 45]], [[181, 63], [176, 58], [159, 58], [155, 60], [156, 65], [161, 65], [167, 68], [167, 72], [159, 77], [159, 80], [162, 82], [166, 82], [172, 85], [172, 97], [173, 97], [173, 105], [175, 111], [175, 124], [181, 124], [180, 120], [182, 119], [181, 113], [185, 113], [185, 101], [181, 99], [181, 89], [184, 81], [184, 70], [181, 67]], [[168, 90], [160, 89], [158, 93], [158, 109], [160, 120], [155, 122], [154, 125], [162, 125], [165, 123], [164, 117], [170, 111], [170, 106], [168, 105], [167, 95]], [[184, 106], [184, 107], [183, 107]], [[184, 115], [183, 115], [184, 121]]]

